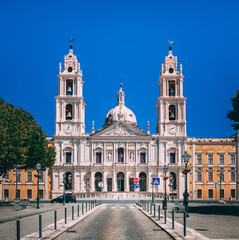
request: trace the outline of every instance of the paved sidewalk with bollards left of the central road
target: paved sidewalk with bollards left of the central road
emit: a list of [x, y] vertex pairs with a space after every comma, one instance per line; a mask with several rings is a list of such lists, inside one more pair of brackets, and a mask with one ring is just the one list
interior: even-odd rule
[[[79, 217], [78, 217], [79, 206]], [[65, 208], [67, 209], [67, 224], [65, 224]], [[39, 238], [39, 215], [42, 215], [42, 239], [51, 239], [67, 230], [69, 227], [95, 211], [99, 206], [90, 209], [89, 203], [84, 203], [84, 214], [82, 214], [82, 203], [44, 204], [40, 209], [28, 206], [25, 210], [15, 211], [13, 207], [0, 207], [0, 239], [17, 239], [17, 220], [20, 220], [21, 239]], [[74, 210], [74, 211], [73, 211]], [[54, 211], [57, 211], [57, 230], [54, 229]], [[72, 219], [72, 211], [74, 220]]]

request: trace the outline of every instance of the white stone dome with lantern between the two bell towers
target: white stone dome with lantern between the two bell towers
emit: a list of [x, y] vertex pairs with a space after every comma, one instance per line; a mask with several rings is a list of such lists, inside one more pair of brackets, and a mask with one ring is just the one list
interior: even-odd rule
[[124, 92], [122, 91], [122, 84], [117, 93], [117, 106], [111, 109], [105, 117], [105, 126], [111, 125], [115, 122], [122, 121], [134, 126], [137, 126], [137, 121], [134, 113], [124, 104]]

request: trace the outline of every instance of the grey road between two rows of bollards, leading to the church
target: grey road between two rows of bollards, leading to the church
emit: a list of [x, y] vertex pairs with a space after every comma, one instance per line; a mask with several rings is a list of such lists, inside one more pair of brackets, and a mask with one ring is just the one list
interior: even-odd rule
[[156, 224], [131, 204], [107, 204], [63, 233], [57, 240], [167, 240]]

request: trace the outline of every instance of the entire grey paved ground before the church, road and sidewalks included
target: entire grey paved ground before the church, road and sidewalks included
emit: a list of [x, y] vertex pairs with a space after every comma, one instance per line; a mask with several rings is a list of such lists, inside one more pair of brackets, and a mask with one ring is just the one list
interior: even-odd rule
[[[78, 215], [79, 205], [79, 217]], [[72, 220], [74, 206], [74, 220]], [[159, 204], [156, 204], [158, 209]], [[162, 205], [160, 204], [162, 207]], [[142, 206], [129, 203], [107, 203], [89, 209], [82, 214], [82, 203], [41, 204], [25, 210], [15, 211], [11, 206], [0, 207], [0, 239], [16, 239], [16, 220], [20, 220], [21, 239], [39, 239], [39, 214], [43, 219], [43, 239], [239, 239], [239, 204], [189, 204], [190, 217], [187, 218], [187, 236], [183, 237], [183, 214], [175, 213], [175, 229], [172, 229], [172, 203], [168, 203], [167, 224], [164, 211], [161, 218], [145, 211]], [[67, 208], [67, 224], [64, 222]], [[58, 227], [54, 230], [54, 211], [57, 211]], [[140, 213], [142, 212], [142, 213]], [[68, 230], [67, 230], [68, 229]], [[135, 232], [134, 232], [135, 230]], [[164, 235], [168, 232], [169, 235]], [[117, 238], [117, 234], [120, 237]], [[59, 236], [58, 236], [59, 235]], [[78, 237], [77, 237], [78, 236]], [[97, 238], [98, 236], [98, 238]], [[155, 238], [157, 236], [157, 238]]]

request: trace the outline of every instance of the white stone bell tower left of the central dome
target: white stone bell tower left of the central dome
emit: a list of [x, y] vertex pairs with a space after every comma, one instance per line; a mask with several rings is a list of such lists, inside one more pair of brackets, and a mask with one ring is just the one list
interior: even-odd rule
[[85, 133], [85, 103], [82, 70], [77, 57], [70, 50], [59, 64], [58, 96], [56, 99], [55, 136], [80, 136]]

